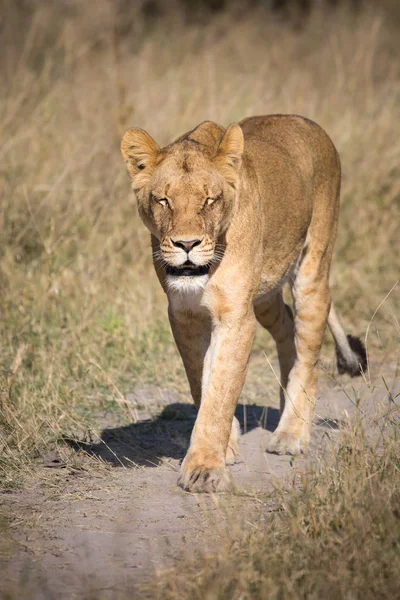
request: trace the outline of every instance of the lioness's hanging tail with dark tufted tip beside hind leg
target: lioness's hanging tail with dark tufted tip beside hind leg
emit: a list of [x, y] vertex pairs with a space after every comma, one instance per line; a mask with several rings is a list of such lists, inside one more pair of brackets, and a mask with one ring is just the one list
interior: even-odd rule
[[348, 373], [351, 377], [361, 375], [367, 368], [364, 344], [360, 338], [346, 335], [333, 303], [329, 311], [328, 325], [335, 340], [339, 373]]

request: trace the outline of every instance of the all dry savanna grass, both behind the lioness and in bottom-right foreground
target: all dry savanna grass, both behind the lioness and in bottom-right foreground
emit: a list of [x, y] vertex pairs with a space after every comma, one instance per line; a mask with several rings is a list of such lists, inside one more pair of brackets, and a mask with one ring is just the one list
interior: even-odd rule
[[[322, 125], [343, 166], [333, 296], [371, 364], [398, 361], [397, 3], [225, 3], [198, 18], [190, 4], [150, 4], [1, 2], [3, 488], [63, 437], [98, 431], [102, 410], [134, 419], [136, 386], [189, 401], [119, 153], [129, 126], [166, 144], [205, 119], [297, 113]], [[254, 351], [265, 349], [260, 332]], [[344, 441], [301, 491], [276, 497], [264, 528], [148, 593], [398, 597], [398, 436], [393, 422], [379, 452]]]

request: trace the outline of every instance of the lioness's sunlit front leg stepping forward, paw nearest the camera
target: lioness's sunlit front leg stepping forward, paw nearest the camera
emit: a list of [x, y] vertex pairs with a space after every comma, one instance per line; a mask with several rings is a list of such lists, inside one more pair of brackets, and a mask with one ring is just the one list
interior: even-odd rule
[[214, 325], [205, 357], [199, 414], [179, 478], [185, 490], [216, 492], [228, 484], [226, 454], [255, 329], [252, 310], [245, 314], [231, 311]]

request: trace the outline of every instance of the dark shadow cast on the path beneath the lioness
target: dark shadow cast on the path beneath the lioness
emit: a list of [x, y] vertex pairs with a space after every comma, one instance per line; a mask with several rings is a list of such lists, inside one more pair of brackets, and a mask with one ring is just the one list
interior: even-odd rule
[[[73, 438], [63, 441], [115, 467], [157, 467], [164, 459], [180, 460], [185, 456], [196, 414], [193, 405], [175, 402], [154, 419], [104, 429], [99, 442]], [[256, 427], [274, 431], [279, 421], [279, 411], [267, 406], [239, 404], [235, 414], [244, 435]]]

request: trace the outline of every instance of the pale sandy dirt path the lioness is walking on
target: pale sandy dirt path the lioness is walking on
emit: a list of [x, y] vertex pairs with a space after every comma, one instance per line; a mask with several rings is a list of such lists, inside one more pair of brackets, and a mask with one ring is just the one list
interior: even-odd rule
[[[319, 460], [351, 420], [362, 415], [371, 435], [388, 425], [399, 404], [400, 383], [394, 367], [385, 373], [392, 397], [381, 369], [370, 386], [362, 379], [335, 385], [322, 375], [308, 458], [267, 455], [276, 406], [240, 405], [237, 415], [245, 433], [243, 462], [231, 468], [234, 494], [193, 495], [176, 486], [195, 415], [190, 405], [176, 398], [171, 403], [163, 391], [158, 416], [139, 413], [134, 425], [105, 428], [101, 441], [84, 446], [92, 457], [70, 442], [77, 464], [42, 464], [24, 489], [0, 495], [9, 525], [0, 543], [0, 592], [1, 586], [4, 592], [23, 584], [25, 598], [82, 598], [89, 591], [96, 598], [114, 598], [127, 580], [140, 583], [155, 570], [179, 565], [194, 548], [212, 551], [232, 528], [268, 518], [273, 486], [293, 485], [307, 462]], [[247, 384], [244, 398], [257, 395], [255, 385]], [[273, 377], [259, 385], [264, 396], [265, 388], [273, 387], [274, 395], [267, 396], [276, 397]], [[154, 390], [140, 393], [151, 396]], [[44, 462], [51, 464], [51, 457]]]

